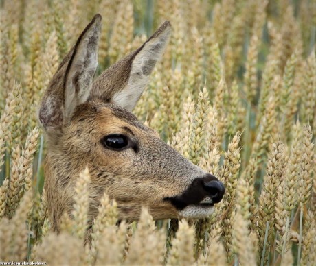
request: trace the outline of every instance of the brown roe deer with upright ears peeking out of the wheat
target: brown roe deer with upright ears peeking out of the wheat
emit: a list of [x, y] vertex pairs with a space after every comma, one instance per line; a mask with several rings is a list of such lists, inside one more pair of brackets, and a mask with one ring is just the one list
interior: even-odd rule
[[39, 111], [48, 139], [45, 191], [53, 230], [71, 213], [76, 178], [86, 166], [91, 221], [104, 191], [116, 200], [120, 219], [138, 219], [142, 206], [154, 219], [210, 215], [223, 184], [131, 113], [168, 43], [170, 23], [93, 82], [101, 20], [94, 16], [60, 63]]

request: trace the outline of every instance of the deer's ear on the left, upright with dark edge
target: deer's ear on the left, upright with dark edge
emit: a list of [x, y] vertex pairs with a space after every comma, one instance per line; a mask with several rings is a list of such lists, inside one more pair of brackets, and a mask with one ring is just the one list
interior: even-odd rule
[[65, 125], [76, 106], [87, 101], [98, 66], [101, 20], [100, 14], [93, 17], [49, 82], [39, 112], [45, 129]]

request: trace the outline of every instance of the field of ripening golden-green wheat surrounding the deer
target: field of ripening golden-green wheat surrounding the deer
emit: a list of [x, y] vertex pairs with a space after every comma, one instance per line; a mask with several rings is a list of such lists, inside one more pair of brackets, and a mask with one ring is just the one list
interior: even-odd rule
[[[225, 184], [207, 219], [117, 222], [104, 195], [84, 245], [86, 169], [50, 232], [38, 105], [96, 13], [98, 73], [171, 22], [133, 113]], [[316, 265], [315, 0], [14, 0], [0, 21], [0, 262]]]

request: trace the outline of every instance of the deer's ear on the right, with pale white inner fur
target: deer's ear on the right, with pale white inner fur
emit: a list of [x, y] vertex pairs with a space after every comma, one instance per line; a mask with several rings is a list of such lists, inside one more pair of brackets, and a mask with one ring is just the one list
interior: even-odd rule
[[133, 110], [148, 84], [150, 73], [163, 55], [170, 32], [170, 22], [166, 21], [141, 47], [104, 71], [93, 82], [89, 98]]

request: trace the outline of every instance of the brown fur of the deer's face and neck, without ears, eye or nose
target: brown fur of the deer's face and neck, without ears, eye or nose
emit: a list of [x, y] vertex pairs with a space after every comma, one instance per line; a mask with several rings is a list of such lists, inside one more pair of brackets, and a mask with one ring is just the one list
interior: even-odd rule
[[[115, 109], [110, 104], [89, 101], [77, 108], [76, 118], [62, 134], [49, 138], [45, 190], [55, 229], [63, 212], [72, 209], [76, 178], [86, 166], [91, 175], [92, 216], [105, 190], [116, 199], [120, 218], [137, 219], [141, 206], [148, 206], [155, 219], [177, 217], [177, 210], [162, 199], [185, 191], [191, 180], [182, 177], [199, 173], [197, 167], [163, 143], [150, 128], [137, 120], [128, 123], [117, 117]], [[113, 133], [131, 136], [139, 152], [104, 149], [100, 139]], [[153, 165], [155, 162], [159, 165]], [[159, 172], [159, 178], [153, 176], [154, 171]]]

